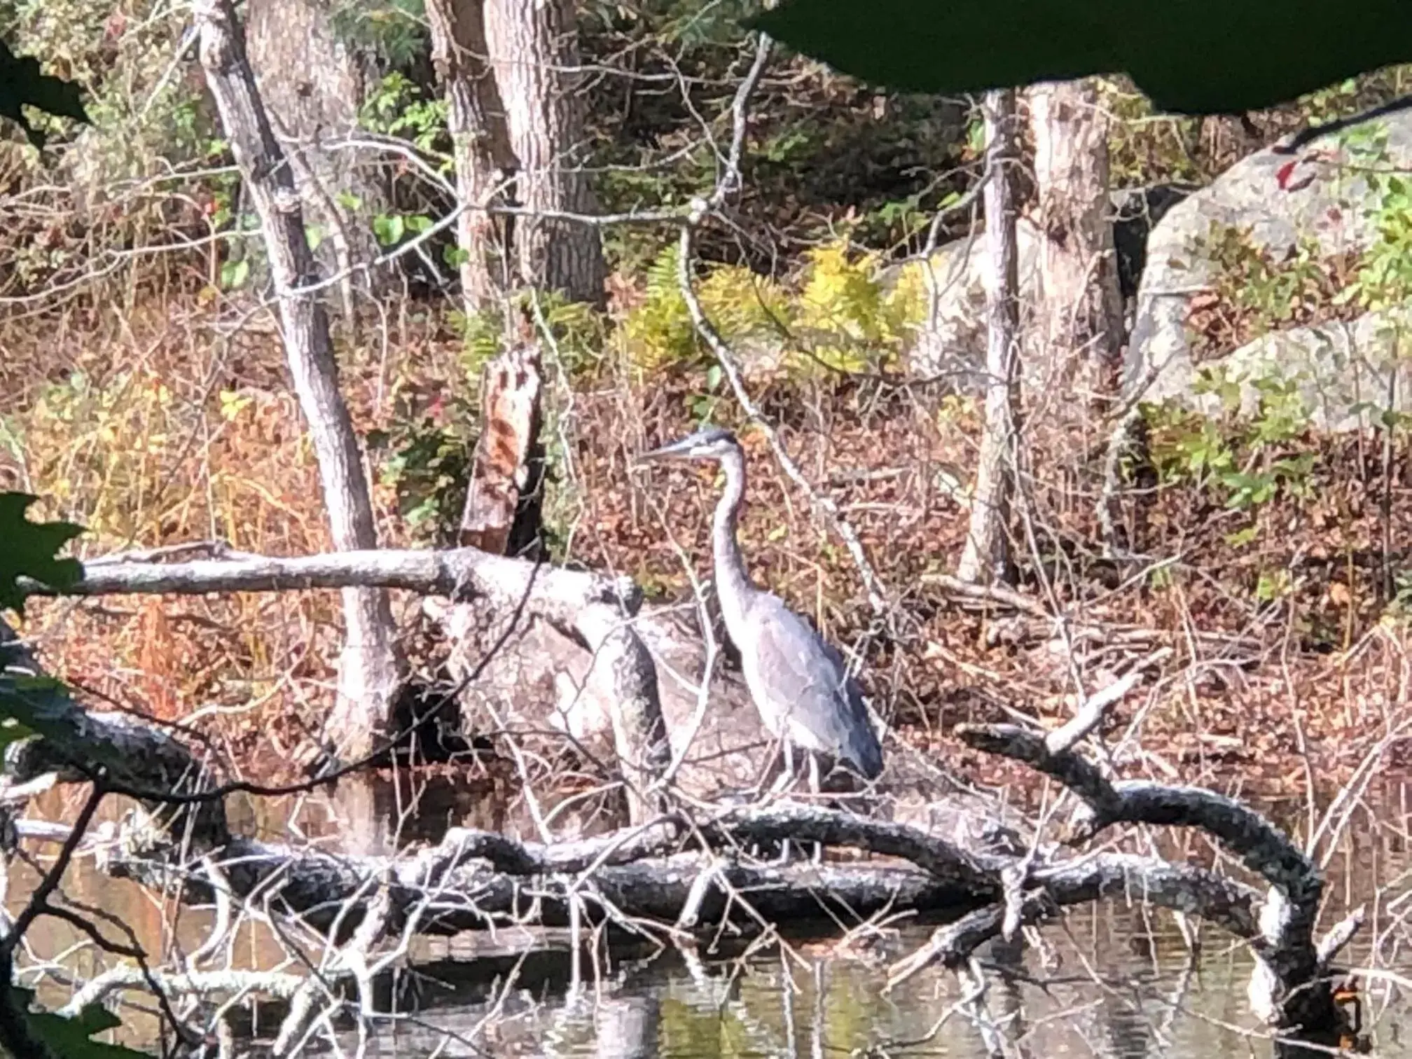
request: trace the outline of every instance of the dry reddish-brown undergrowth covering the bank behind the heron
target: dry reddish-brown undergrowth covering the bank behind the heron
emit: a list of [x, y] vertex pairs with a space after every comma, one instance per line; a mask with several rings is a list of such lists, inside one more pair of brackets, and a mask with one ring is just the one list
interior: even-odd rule
[[[473, 364], [452, 321], [425, 305], [398, 302], [374, 325], [373, 340], [343, 349], [342, 371], [381, 541], [445, 544], [474, 441]], [[275, 332], [226, 335], [191, 294], [157, 291], [131, 308], [14, 321], [3, 342], [0, 477], [44, 497], [47, 517], [86, 525], [83, 555], [192, 541], [328, 548]], [[1142, 659], [1154, 678], [1110, 730], [1118, 760], [1141, 771], [1278, 792], [1346, 778], [1377, 746], [1382, 768], [1405, 761], [1412, 559], [1396, 542], [1412, 534], [1412, 481], [1396, 432], [1319, 438], [1279, 419], [1278, 393], [1254, 426], [1148, 409], [1147, 453], [1124, 466], [1120, 490], [1130, 555], [1115, 559], [1094, 517], [1106, 432], [1029, 415], [1014, 554], [1036, 610], [1066, 616], [1055, 626], [966, 609], [946, 590], [966, 532], [974, 400], [881, 371], [757, 380], [764, 414], [894, 600], [875, 623], [842, 541], [709, 364], [648, 377], [621, 356], [573, 370], [551, 357], [546, 378], [555, 561], [628, 573], [650, 599], [688, 596], [676, 548], [709, 570], [717, 483], [706, 470], [645, 476], [634, 459], [702, 418], [740, 428], [753, 575], [861, 654], [894, 738], [959, 771], [1029, 782], [966, 751], [950, 727], [1014, 710], [1058, 723], [1076, 706], [1076, 672], [1091, 692]], [[397, 606], [414, 657], [433, 668], [418, 602]], [[202, 731], [247, 775], [288, 778], [333, 693], [336, 593], [47, 602], [27, 624], [64, 679]]]

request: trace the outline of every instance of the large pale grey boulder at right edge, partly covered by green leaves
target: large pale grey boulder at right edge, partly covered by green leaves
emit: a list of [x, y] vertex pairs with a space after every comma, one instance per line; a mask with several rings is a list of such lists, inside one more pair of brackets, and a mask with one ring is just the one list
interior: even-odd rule
[[[1388, 165], [1412, 165], [1412, 114], [1389, 117], [1385, 128]], [[1209, 294], [1220, 280], [1204, 251], [1213, 226], [1247, 232], [1250, 244], [1274, 261], [1308, 240], [1333, 257], [1372, 241], [1370, 215], [1377, 205], [1351, 167], [1264, 150], [1172, 206], [1147, 244], [1124, 371], [1128, 394], [1141, 391], [1148, 401], [1178, 400], [1197, 408], [1216, 400], [1193, 393], [1199, 364], [1186, 326], [1192, 298]], [[1348, 429], [1365, 421], [1358, 405], [1385, 402], [1394, 360], [1387, 330], [1388, 321], [1374, 315], [1274, 332], [1240, 350], [1216, 350], [1214, 356], [1206, 350], [1200, 366], [1224, 364], [1233, 378], [1298, 380], [1313, 425]], [[1254, 390], [1247, 388], [1245, 398], [1252, 401]]]

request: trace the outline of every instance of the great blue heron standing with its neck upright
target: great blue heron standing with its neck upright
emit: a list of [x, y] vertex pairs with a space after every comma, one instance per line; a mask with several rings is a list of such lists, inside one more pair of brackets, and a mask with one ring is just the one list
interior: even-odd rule
[[716, 460], [726, 472], [726, 491], [716, 504], [712, 551], [716, 597], [726, 631], [740, 651], [746, 686], [770, 733], [809, 760], [809, 779], [819, 791], [819, 757], [866, 779], [882, 771], [882, 747], [868, 720], [863, 695], [843, 657], [778, 596], [751, 583], [736, 541], [746, 498], [746, 456], [730, 431], [707, 426], [642, 459]]

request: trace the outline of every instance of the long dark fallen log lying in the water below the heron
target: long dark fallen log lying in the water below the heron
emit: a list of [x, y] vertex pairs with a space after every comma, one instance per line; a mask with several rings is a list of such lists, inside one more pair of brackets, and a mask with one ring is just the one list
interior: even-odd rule
[[[761, 929], [791, 921], [863, 922], [880, 912], [955, 919], [995, 909], [1014, 857], [962, 850], [921, 829], [803, 805], [730, 809], [717, 819], [664, 818], [572, 843], [524, 843], [504, 834], [453, 829], [436, 846], [400, 857], [350, 857], [234, 839], [219, 871], [182, 858], [160, 827], [140, 823], [96, 836], [100, 867], [152, 888], [175, 888], [196, 904], [256, 894], [267, 908], [306, 925], [337, 928], [339, 940], [385, 884], [387, 931], [445, 935], [515, 926], [566, 926], [579, 902], [587, 921], [645, 931]], [[761, 864], [751, 843], [789, 837], [851, 849], [880, 860]], [[1210, 919], [1258, 940], [1260, 895], [1199, 867], [1106, 853], [1048, 863], [1031, 871], [1027, 916], [1104, 897], [1141, 895], [1155, 905]], [[381, 885], [377, 887], [381, 890]], [[974, 921], [970, 938], [991, 928]], [[998, 921], [997, 921], [998, 923]], [[998, 929], [998, 926], [995, 928]]]

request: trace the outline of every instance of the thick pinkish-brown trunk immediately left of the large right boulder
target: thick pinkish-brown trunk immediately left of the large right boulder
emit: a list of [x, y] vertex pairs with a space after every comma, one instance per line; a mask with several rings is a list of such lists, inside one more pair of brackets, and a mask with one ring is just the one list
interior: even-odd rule
[[1108, 128], [1093, 80], [1029, 89], [1039, 191], [1039, 299], [1035, 319], [1046, 377], [1096, 391], [1123, 347], [1108, 202]]

